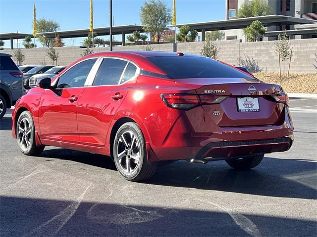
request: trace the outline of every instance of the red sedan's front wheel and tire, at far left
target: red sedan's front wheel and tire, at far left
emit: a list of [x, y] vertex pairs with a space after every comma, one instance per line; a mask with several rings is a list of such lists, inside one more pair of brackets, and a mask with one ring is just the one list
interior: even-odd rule
[[16, 123], [16, 138], [24, 155], [37, 156], [44, 150], [45, 146], [36, 146], [34, 122], [29, 111], [23, 111]]

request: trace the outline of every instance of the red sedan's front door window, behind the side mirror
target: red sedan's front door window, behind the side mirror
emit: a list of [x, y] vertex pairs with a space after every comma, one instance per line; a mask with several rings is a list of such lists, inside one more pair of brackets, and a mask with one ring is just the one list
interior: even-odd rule
[[97, 58], [80, 62], [60, 76], [57, 88], [81, 87], [85, 81]]

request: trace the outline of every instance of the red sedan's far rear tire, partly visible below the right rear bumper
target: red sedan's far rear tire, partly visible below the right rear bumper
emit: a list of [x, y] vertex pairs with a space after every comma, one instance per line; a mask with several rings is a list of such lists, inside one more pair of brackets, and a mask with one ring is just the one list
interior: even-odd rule
[[256, 154], [245, 158], [228, 159], [226, 162], [234, 169], [248, 170], [258, 166], [263, 158], [264, 154]]

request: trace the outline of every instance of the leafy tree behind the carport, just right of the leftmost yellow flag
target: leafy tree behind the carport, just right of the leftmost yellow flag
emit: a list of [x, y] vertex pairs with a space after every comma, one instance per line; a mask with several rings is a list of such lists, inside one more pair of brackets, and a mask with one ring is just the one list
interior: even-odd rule
[[[59, 30], [59, 24], [54, 20], [46, 20], [45, 18], [41, 18], [36, 20], [36, 28], [38, 33], [55, 32]], [[43, 46], [45, 47], [53, 46], [53, 41], [54, 41], [53, 38], [47, 38], [41, 35], [39, 35], [38, 38]]]

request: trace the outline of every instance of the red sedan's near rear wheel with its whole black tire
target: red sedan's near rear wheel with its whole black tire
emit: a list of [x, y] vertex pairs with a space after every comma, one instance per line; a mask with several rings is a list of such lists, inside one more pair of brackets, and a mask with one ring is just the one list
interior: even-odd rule
[[113, 159], [119, 173], [129, 181], [151, 178], [158, 166], [148, 161], [143, 133], [134, 122], [124, 123], [116, 132]]

